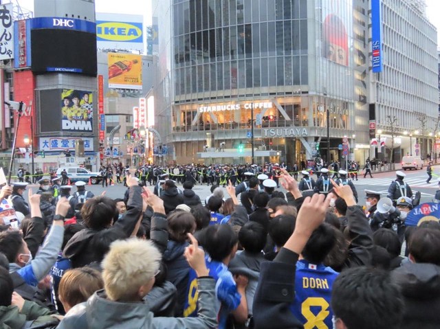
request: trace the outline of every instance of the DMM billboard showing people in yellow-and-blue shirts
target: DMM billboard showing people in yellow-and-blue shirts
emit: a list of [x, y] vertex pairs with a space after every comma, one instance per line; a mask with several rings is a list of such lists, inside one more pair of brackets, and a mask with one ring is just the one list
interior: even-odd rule
[[60, 98], [62, 131], [93, 131], [93, 94], [91, 91], [63, 89]]

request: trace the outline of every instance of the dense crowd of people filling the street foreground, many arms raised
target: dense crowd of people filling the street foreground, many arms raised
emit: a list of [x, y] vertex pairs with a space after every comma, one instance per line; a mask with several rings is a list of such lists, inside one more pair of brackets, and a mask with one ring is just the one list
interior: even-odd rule
[[58, 177], [1, 188], [0, 328], [439, 327], [440, 223], [405, 227], [402, 172], [380, 212], [347, 170], [141, 169], [114, 200]]

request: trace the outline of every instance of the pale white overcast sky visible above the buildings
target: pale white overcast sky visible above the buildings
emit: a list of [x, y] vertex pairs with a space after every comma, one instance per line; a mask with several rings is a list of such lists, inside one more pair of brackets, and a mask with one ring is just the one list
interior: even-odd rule
[[[21, 7], [34, 10], [34, 0], [16, 0]], [[337, 1], [337, 0], [333, 0]], [[2, 1], [8, 2], [8, 1]], [[428, 19], [440, 28], [440, 1], [426, 0], [426, 12]], [[111, 12], [120, 14], [141, 14], [144, 13], [144, 23], [151, 24], [151, 0], [96, 0], [96, 12]], [[437, 32], [437, 45], [440, 45], [440, 34]]]

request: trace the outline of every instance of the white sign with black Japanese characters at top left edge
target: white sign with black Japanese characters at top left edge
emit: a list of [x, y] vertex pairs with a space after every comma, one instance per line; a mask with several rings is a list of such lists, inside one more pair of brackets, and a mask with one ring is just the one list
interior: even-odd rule
[[0, 60], [14, 58], [14, 4], [0, 5]]

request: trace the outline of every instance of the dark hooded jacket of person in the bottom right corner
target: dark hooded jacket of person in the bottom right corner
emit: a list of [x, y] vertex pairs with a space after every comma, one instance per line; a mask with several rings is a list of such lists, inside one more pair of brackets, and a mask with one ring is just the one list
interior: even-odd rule
[[391, 273], [404, 295], [405, 311], [400, 328], [439, 328], [440, 266], [406, 263]]

